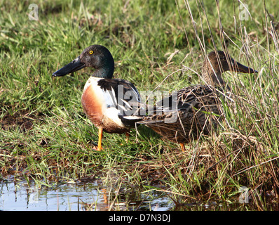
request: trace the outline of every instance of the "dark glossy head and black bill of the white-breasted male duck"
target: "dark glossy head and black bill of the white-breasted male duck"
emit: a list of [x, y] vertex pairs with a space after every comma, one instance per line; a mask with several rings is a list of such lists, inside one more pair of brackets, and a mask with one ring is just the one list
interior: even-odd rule
[[78, 58], [53, 73], [54, 77], [68, 75], [82, 68], [94, 68], [93, 77], [112, 78], [114, 74], [114, 58], [107, 48], [91, 45], [84, 49]]

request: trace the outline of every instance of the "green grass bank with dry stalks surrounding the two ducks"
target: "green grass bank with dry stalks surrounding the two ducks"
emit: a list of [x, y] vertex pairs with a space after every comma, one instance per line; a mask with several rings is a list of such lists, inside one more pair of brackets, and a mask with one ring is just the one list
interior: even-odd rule
[[[29, 20], [29, 4], [38, 4], [39, 21]], [[246, 4], [249, 20], [240, 20], [238, 1], [0, 1], [1, 176], [51, 185], [102, 174], [109, 183], [113, 172], [118, 188], [148, 192], [158, 184], [177, 204], [233, 202], [247, 186], [253, 209], [272, 210], [263, 199], [279, 191], [279, 6]], [[128, 143], [124, 135], [104, 134], [104, 151], [96, 153], [97, 129], [80, 101], [92, 70], [51, 77], [91, 44], [107, 46], [114, 77], [140, 91], [173, 72], [158, 90], [199, 84], [191, 70], [200, 72], [205, 51], [215, 46], [259, 73], [226, 72], [236, 103], [224, 103], [219, 133], [193, 141], [186, 153], [147, 127], [133, 130]]]

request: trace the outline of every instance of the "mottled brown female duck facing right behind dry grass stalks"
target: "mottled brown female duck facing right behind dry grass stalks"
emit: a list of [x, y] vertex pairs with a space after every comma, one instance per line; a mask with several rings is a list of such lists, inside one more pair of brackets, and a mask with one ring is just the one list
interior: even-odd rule
[[184, 143], [197, 139], [202, 131], [203, 134], [210, 134], [222, 115], [219, 107], [221, 101], [214, 88], [219, 86], [220, 91], [226, 88], [222, 72], [257, 72], [236, 62], [223, 51], [217, 51], [217, 54], [212, 51], [207, 57], [202, 68], [202, 76], [207, 85], [189, 86], [175, 91], [156, 103], [154, 115], [146, 116], [138, 122], [161, 134], [164, 139], [179, 143], [182, 150]]

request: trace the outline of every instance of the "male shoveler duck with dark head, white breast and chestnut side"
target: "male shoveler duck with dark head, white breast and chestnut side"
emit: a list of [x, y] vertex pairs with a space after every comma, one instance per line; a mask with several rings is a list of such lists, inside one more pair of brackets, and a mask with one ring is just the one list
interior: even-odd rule
[[91, 122], [99, 129], [98, 146], [102, 150], [102, 132], [122, 134], [142, 120], [132, 115], [140, 107], [140, 94], [135, 86], [125, 79], [112, 79], [114, 58], [107, 48], [92, 45], [86, 48], [72, 63], [53, 73], [64, 76], [81, 70], [95, 68], [83, 89], [81, 103]]

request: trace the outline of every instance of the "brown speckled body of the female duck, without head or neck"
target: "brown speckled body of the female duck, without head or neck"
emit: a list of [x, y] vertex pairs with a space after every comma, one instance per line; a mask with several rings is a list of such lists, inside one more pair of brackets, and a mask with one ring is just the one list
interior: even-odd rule
[[177, 91], [177, 100], [182, 103], [177, 110], [163, 112], [145, 117], [141, 124], [147, 125], [164, 139], [176, 143], [188, 143], [198, 138], [200, 131], [210, 134], [222, 115], [217, 95], [209, 86], [191, 86]]

